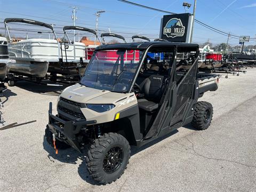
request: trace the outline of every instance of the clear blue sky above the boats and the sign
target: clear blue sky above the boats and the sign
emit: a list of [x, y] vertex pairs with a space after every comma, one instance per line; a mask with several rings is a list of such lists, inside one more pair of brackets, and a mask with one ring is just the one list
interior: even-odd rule
[[[175, 13], [185, 13], [184, 1], [191, 3], [187, 12], [193, 13], [194, 0], [130, 0], [131, 2]], [[98, 28], [125, 36], [145, 35], [151, 39], [159, 36], [161, 18], [166, 13], [144, 9], [117, 0], [0, 0], [0, 33], [4, 34], [5, 18], [26, 18], [53, 23], [58, 35], [62, 26], [73, 25], [72, 6], [78, 7], [76, 26], [95, 29], [95, 12], [104, 10], [99, 18]], [[195, 18], [214, 28], [233, 35], [249, 35], [256, 38], [256, 1], [254, 0], [197, 0]], [[26, 28], [27, 26], [14, 26]], [[33, 28], [34, 29], [34, 28]], [[16, 31], [16, 36], [25, 37], [26, 31]], [[18, 34], [19, 33], [19, 34]], [[197, 23], [193, 42], [215, 44], [226, 43], [227, 36], [215, 33]], [[238, 45], [235, 38], [229, 39], [232, 46]], [[245, 45], [256, 44], [255, 39]]]

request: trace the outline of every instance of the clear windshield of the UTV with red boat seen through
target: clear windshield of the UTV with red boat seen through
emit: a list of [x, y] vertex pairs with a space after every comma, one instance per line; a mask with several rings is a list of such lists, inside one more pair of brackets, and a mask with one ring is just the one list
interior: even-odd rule
[[139, 66], [139, 60], [139, 50], [97, 51], [80, 83], [99, 90], [127, 92]]

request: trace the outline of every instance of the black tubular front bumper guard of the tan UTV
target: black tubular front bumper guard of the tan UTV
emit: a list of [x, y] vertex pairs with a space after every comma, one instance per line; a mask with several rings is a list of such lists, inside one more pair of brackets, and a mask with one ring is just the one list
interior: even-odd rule
[[82, 128], [85, 128], [89, 124], [95, 124], [97, 121], [86, 121], [85, 119], [73, 119], [65, 121], [58, 116], [52, 115], [52, 102], [49, 103], [49, 123], [48, 127], [52, 133], [55, 134], [55, 138], [68, 143], [71, 147], [82, 153], [81, 146], [77, 141], [77, 134]]

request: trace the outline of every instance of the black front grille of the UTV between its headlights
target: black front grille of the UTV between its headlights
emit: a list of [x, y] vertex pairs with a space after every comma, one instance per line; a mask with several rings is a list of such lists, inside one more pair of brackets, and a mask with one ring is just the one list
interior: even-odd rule
[[60, 98], [58, 109], [62, 112], [72, 115], [77, 118], [85, 119], [81, 111], [81, 103], [70, 101], [68, 99]]

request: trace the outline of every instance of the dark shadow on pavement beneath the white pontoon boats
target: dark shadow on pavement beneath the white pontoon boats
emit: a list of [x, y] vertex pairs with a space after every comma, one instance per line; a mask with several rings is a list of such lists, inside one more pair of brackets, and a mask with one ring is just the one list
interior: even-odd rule
[[[54, 84], [54, 83], [51, 83], [51, 84]], [[46, 95], [54, 95], [54, 96], [60, 95], [62, 90], [64, 90], [66, 87], [70, 85], [71, 84], [61, 84], [61, 86], [41, 85], [41, 84], [36, 84], [33, 82], [27, 82], [27, 81], [19, 81], [19, 82], [16, 82], [15, 84], [15, 86], [30, 92], [46, 94]]]

